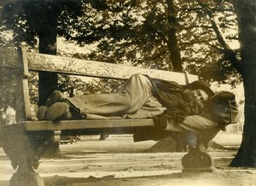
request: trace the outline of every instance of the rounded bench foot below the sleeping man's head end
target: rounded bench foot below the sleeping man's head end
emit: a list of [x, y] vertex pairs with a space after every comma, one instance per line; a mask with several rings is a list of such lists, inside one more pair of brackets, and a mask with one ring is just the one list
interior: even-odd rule
[[202, 144], [198, 144], [198, 138], [194, 132], [187, 134], [187, 143], [189, 145], [189, 153], [185, 154], [182, 159], [183, 172], [213, 171], [212, 157], [205, 152]]

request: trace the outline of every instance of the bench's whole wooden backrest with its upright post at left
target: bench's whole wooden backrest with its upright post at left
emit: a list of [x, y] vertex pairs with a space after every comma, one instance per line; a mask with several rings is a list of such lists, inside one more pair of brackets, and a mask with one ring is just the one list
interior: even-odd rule
[[[178, 84], [188, 84], [197, 76], [188, 73], [175, 73], [163, 70], [154, 70], [141, 67], [129, 67], [100, 61], [86, 61], [57, 55], [43, 55], [26, 52], [25, 47], [21, 51], [0, 49], [0, 67], [20, 69], [19, 83], [19, 111], [18, 122], [32, 120], [31, 105], [28, 92], [29, 71], [54, 72], [97, 78], [127, 79], [136, 73], [148, 74], [151, 78], [162, 78], [176, 81]], [[17, 118], [17, 117], [16, 117]], [[21, 119], [19, 119], [21, 118]]]

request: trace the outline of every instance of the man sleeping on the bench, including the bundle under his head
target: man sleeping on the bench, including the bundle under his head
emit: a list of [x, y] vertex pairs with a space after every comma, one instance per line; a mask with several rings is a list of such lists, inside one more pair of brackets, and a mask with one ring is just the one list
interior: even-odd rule
[[229, 91], [214, 93], [200, 80], [179, 85], [142, 74], [131, 76], [112, 94], [65, 98], [55, 90], [38, 108], [38, 120], [153, 118], [157, 128], [138, 131], [135, 142], [159, 140], [165, 131], [179, 139], [196, 134], [208, 142], [226, 125], [236, 123], [237, 115], [236, 96]]

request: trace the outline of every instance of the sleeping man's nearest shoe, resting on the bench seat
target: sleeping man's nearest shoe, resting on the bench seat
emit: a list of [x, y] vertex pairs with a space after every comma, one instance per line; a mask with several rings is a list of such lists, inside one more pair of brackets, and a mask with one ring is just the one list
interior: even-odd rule
[[47, 109], [45, 120], [67, 119], [69, 114], [69, 104], [67, 102], [55, 102]]

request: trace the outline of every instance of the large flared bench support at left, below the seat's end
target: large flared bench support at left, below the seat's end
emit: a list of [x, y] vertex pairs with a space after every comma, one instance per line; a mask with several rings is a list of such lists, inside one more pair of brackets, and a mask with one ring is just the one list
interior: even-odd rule
[[26, 132], [20, 125], [7, 125], [0, 130], [5, 154], [17, 169], [10, 180], [11, 186], [43, 186], [44, 180], [35, 169], [54, 136], [53, 132]]

